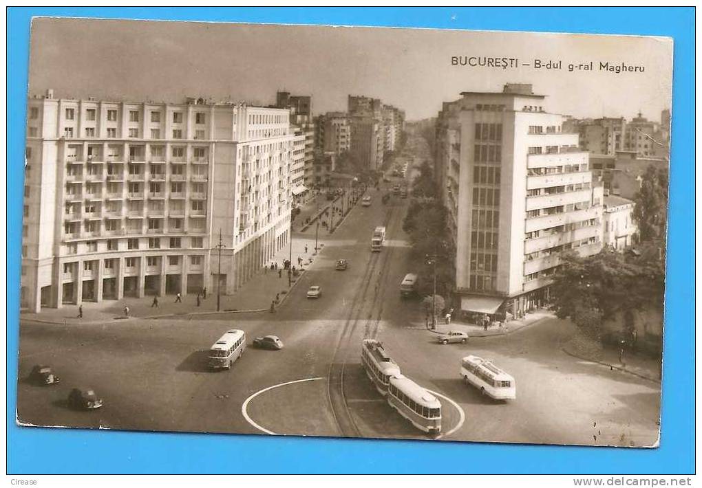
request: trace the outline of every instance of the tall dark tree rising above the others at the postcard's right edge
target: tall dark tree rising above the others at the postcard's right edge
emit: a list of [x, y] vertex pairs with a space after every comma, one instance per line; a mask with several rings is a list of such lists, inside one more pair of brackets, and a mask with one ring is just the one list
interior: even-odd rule
[[650, 165], [642, 175], [641, 189], [634, 201], [640, 240], [664, 239], [668, 222], [668, 170]]

